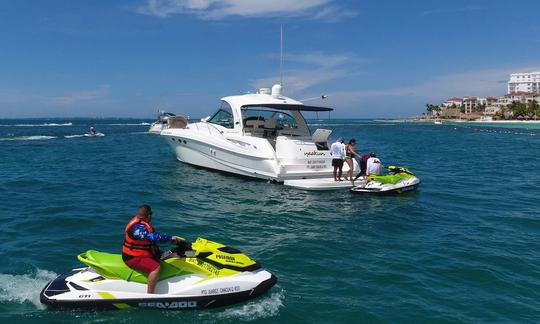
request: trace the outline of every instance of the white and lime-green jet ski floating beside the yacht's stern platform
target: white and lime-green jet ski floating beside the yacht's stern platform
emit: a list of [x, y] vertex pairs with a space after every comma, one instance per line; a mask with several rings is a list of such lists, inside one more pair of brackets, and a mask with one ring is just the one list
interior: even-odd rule
[[368, 175], [361, 185], [351, 188], [353, 193], [391, 194], [414, 190], [420, 185], [418, 179], [405, 167], [389, 166], [387, 175]]

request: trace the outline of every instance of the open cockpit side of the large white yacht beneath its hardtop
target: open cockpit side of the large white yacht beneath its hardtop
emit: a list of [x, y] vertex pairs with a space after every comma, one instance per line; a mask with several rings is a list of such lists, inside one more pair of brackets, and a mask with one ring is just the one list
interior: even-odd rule
[[278, 135], [305, 136], [309, 130], [298, 111], [277, 110], [264, 106], [242, 107], [244, 132], [260, 137]]

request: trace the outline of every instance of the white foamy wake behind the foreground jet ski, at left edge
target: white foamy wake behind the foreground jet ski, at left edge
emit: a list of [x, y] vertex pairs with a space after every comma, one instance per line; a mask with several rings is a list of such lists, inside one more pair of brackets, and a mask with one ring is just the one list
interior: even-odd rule
[[54, 272], [41, 269], [23, 275], [0, 273], [0, 302], [30, 302], [42, 309], [44, 307], [39, 302], [39, 293], [57, 276]]

